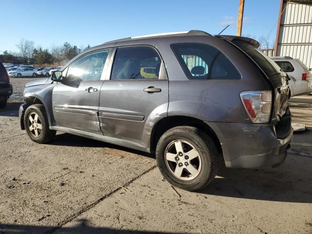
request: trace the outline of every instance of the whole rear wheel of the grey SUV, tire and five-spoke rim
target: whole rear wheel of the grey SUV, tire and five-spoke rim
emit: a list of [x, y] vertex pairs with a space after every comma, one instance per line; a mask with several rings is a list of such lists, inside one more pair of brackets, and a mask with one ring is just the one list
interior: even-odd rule
[[174, 186], [201, 190], [210, 184], [218, 170], [214, 141], [202, 130], [190, 126], [165, 132], [156, 146], [156, 161], [161, 174]]

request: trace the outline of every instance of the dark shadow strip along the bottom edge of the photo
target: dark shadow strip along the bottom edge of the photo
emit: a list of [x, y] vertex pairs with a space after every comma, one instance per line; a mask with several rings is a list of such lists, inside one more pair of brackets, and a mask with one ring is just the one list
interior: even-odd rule
[[[31, 225], [12, 225], [1, 224], [1, 234], [51, 234], [57, 231], [60, 234], [173, 234], [167, 232], [150, 232], [135, 230], [119, 230], [109, 227], [93, 227], [89, 225], [88, 219], [80, 219], [75, 227], [53, 227], [53, 226], [31, 226]], [[179, 234], [176, 233], [175, 234]]]

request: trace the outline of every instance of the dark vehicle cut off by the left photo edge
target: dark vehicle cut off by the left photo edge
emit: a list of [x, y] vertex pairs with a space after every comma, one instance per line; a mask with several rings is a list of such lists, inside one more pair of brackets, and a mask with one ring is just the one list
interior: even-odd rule
[[3, 64], [0, 62], [0, 108], [6, 107], [7, 100], [13, 93], [10, 78]]

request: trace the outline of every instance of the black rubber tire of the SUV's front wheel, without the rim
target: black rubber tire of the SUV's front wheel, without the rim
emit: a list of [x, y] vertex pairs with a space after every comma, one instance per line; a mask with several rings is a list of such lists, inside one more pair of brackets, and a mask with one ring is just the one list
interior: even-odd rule
[[[30, 115], [35, 115], [37, 114], [38, 117], [38, 124], [41, 124], [41, 131], [39, 132], [39, 128], [38, 128], [38, 137], [35, 136], [34, 134], [34, 130], [30, 130], [30, 120], [29, 120], [29, 116]], [[24, 115], [24, 126], [26, 129], [26, 132], [29, 136], [29, 138], [32, 141], [35, 141], [39, 144], [41, 143], [46, 143], [48, 141], [53, 140], [53, 138], [55, 137], [56, 131], [54, 130], [50, 130], [49, 129], [49, 122], [48, 122], [48, 117], [45, 111], [45, 108], [43, 105], [41, 104], [34, 104], [29, 106], [26, 111], [25, 111], [25, 115]], [[36, 127], [36, 124], [33, 124], [32, 127]]]

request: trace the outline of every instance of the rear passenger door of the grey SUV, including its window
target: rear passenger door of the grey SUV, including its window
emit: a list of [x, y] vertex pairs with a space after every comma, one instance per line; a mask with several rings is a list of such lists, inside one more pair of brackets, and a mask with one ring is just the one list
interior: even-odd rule
[[153, 122], [167, 116], [164, 63], [153, 47], [119, 47], [111, 70], [100, 93], [101, 130], [105, 136], [149, 147]]

